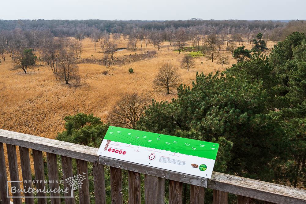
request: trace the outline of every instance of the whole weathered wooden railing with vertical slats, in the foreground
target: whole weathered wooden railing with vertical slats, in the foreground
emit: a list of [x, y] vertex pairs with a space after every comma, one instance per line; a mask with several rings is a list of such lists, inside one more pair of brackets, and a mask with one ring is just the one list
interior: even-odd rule
[[[11, 181], [19, 181], [16, 146], [19, 146], [21, 158], [21, 170], [23, 180], [32, 180], [29, 149], [33, 152], [35, 180], [44, 180], [43, 152], [46, 152], [48, 163], [49, 180], [58, 180], [57, 155], [62, 158], [63, 179], [73, 176], [72, 158], [77, 161], [78, 173], [85, 173], [86, 179], [79, 188], [79, 202], [90, 203], [88, 183], [88, 162], [93, 164], [95, 203], [106, 203], [104, 165], [99, 164], [98, 149], [83, 145], [62, 142], [54, 139], [27, 135], [0, 129], [0, 203], [9, 204], [7, 198], [7, 173], [6, 157], [3, 143], [6, 143], [7, 159]], [[101, 162], [100, 162], [101, 163]], [[127, 166], [124, 163], [112, 162], [111, 159], [105, 164], [110, 165], [111, 202], [122, 203], [122, 175], [121, 169], [129, 170], [129, 203], [141, 203], [140, 173], [145, 173], [145, 203], [164, 203], [165, 178], [169, 178], [169, 203], [182, 203], [182, 183], [190, 184], [190, 180], [175, 178], [171, 180], [166, 176], [152, 176], [150, 171], [140, 169], [139, 166]], [[132, 165], [132, 164], [131, 164]], [[120, 167], [119, 167], [120, 166]], [[133, 168], [133, 169], [132, 169]], [[150, 168], [146, 166], [146, 169]], [[154, 172], [152, 170], [152, 172]], [[153, 173], [154, 174], [154, 173]], [[165, 174], [166, 175], [166, 174]], [[178, 181], [182, 180], [181, 182]], [[199, 180], [198, 182], [201, 182]], [[64, 187], [68, 187], [63, 182]], [[20, 184], [12, 182], [17, 189]], [[32, 185], [32, 184], [27, 184]], [[45, 184], [37, 183], [37, 188], [43, 189]], [[50, 184], [50, 188], [58, 188], [58, 184]], [[213, 204], [228, 203], [228, 193], [236, 194], [238, 204], [252, 203], [253, 199], [265, 201], [265, 203], [299, 204], [306, 203], [306, 190], [252, 180], [238, 176], [213, 172], [211, 179], [207, 180], [207, 188], [213, 189]], [[190, 185], [190, 203], [204, 203], [205, 188], [200, 184]], [[50, 193], [53, 197], [51, 203], [60, 203], [59, 193]], [[69, 196], [70, 192], [65, 196]], [[21, 203], [21, 194], [13, 194], [13, 203]], [[33, 194], [25, 193], [26, 203], [34, 203]], [[47, 203], [45, 193], [38, 193], [38, 203]], [[31, 198], [32, 197], [32, 198]], [[65, 203], [75, 203], [75, 198], [65, 198]]]

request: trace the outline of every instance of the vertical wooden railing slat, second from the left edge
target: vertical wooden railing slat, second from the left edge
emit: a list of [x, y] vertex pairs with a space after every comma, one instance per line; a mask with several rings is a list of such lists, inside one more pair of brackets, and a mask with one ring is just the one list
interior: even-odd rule
[[[7, 149], [7, 158], [9, 160], [9, 174], [11, 181], [19, 181], [19, 172], [18, 172], [18, 164], [17, 164], [17, 154], [16, 154], [16, 146], [6, 144]], [[20, 190], [20, 182], [11, 182], [11, 187], [15, 187], [17, 190], [16, 193], [13, 193], [13, 202], [14, 204], [21, 204], [21, 193], [18, 193]]]

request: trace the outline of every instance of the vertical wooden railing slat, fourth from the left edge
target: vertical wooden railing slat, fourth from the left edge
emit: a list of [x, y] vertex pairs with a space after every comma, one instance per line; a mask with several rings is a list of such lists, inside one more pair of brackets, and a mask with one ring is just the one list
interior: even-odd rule
[[[43, 167], [43, 152], [39, 150], [33, 150], [33, 161], [35, 171], [35, 184], [36, 189], [43, 190], [45, 188], [45, 171]], [[37, 192], [38, 197], [46, 197], [46, 193], [43, 191]], [[37, 198], [38, 203], [47, 203], [47, 198]]]

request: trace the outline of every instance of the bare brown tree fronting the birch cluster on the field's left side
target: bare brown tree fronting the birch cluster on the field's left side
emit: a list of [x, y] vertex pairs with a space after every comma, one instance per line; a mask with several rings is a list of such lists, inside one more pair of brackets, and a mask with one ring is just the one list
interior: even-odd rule
[[73, 51], [70, 49], [62, 49], [58, 59], [57, 76], [60, 80], [65, 80], [68, 84], [69, 80], [77, 80], [79, 76], [79, 68], [73, 60]]

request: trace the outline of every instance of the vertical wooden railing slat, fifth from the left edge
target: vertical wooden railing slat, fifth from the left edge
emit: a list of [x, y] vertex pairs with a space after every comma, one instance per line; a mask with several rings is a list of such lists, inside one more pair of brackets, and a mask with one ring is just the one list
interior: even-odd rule
[[57, 166], [57, 156], [56, 154], [52, 154], [47, 152], [47, 162], [48, 162], [48, 175], [49, 175], [49, 180], [51, 180], [51, 184], [50, 184], [50, 190], [52, 190], [50, 192], [50, 196], [54, 197], [51, 198], [51, 203], [52, 204], [60, 204], [60, 198], [56, 198], [59, 197], [59, 193], [58, 191], [54, 192], [56, 189], [59, 188], [59, 184], [58, 184], [58, 166]]

